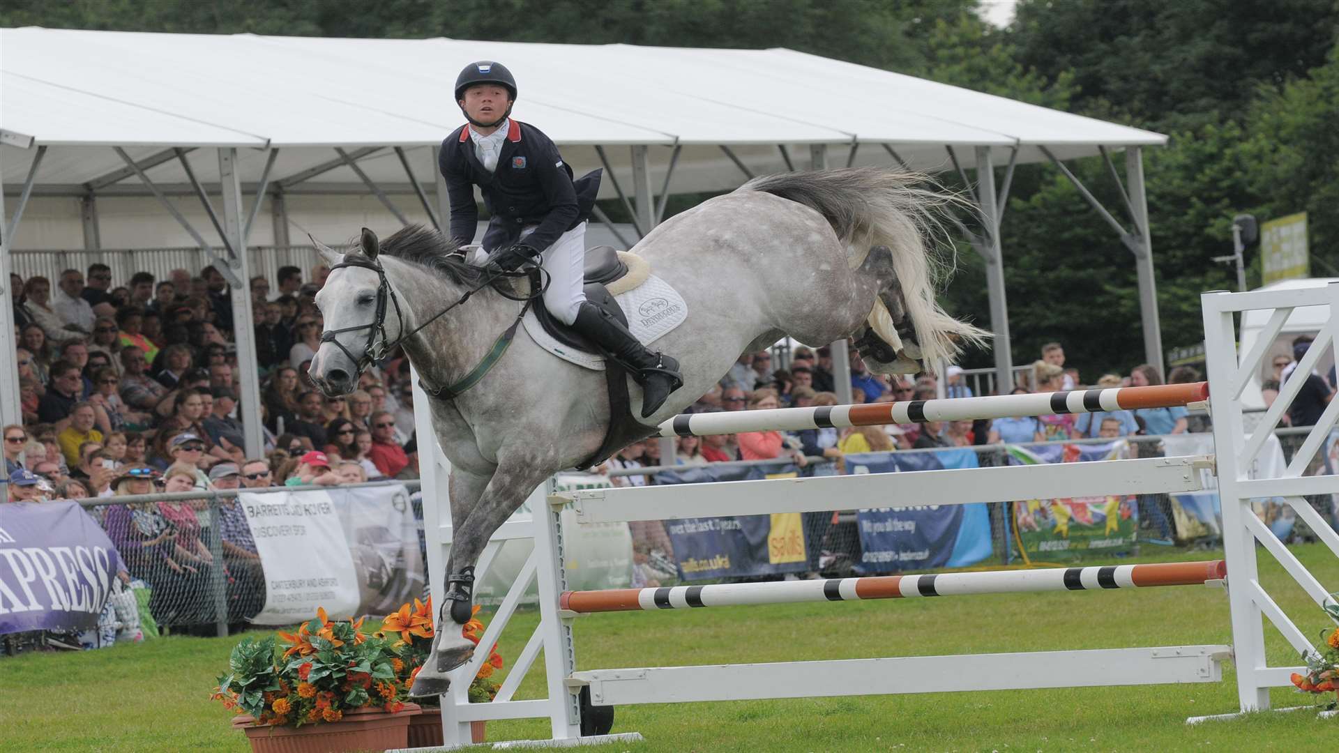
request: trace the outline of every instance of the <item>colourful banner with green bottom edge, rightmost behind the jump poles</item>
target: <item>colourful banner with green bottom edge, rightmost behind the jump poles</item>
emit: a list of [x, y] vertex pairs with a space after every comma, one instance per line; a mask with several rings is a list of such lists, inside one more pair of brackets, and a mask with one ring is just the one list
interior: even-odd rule
[[[1121, 460], [1130, 445], [1117, 439], [1099, 445], [1006, 445], [1012, 465]], [[1030, 557], [1056, 553], [1103, 555], [1129, 552], [1138, 537], [1139, 508], [1134, 496], [1022, 500], [1014, 502], [1015, 535]]]

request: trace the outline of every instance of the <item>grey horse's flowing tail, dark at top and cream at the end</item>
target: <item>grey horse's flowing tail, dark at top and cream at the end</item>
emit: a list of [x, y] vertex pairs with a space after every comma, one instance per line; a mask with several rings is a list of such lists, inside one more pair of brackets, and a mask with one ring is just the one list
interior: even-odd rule
[[848, 167], [813, 173], [781, 173], [754, 178], [739, 190], [761, 190], [817, 210], [846, 245], [850, 264], [858, 265], [869, 249], [888, 247], [907, 299], [907, 314], [927, 368], [952, 359], [965, 343], [980, 344], [988, 332], [948, 315], [936, 299], [936, 288], [953, 269], [939, 251], [945, 233], [937, 214], [953, 206], [969, 206], [933, 185], [925, 176], [878, 167]]

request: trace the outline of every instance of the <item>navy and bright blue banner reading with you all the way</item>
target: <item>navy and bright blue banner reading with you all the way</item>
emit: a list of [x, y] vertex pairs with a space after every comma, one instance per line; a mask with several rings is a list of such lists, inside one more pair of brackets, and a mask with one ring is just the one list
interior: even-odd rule
[[[896, 473], [977, 468], [967, 448], [912, 453], [853, 453], [846, 473]], [[967, 567], [991, 556], [991, 520], [987, 505], [936, 505], [912, 500], [889, 481], [889, 506], [857, 512], [861, 559], [858, 573]], [[864, 500], [862, 500], [864, 501]]]

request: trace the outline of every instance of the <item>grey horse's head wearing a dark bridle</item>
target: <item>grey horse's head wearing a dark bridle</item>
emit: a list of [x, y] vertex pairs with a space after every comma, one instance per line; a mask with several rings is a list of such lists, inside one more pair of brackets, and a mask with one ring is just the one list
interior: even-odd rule
[[363, 368], [383, 358], [400, 336], [404, 312], [378, 259], [376, 233], [363, 228], [359, 248], [344, 255], [316, 238], [312, 243], [331, 275], [316, 293], [325, 331], [308, 375], [327, 395], [347, 395], [358, 387]]

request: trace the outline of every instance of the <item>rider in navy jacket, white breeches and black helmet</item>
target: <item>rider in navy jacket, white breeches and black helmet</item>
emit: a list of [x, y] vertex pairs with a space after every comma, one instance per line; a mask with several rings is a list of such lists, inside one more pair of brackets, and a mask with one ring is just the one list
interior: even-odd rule
[[478, 208], [473, 185], [493, 214], [483, 233], [489, 261], [513, 271], [541, 265], [549, 276], [544, 305], [627, 367], [641, 385], [647, 418], [683, 385], [679, 362], [647, 350], [617, 319], [582, 292], [585, 226], [600, 173], [572, 180], [572, 167], [540, 129], [510, 119], [517, 87], [511, 71], [491, 60], [470, 63], [455, 79], [455, 102], [467, 125], [442, 142], [438, 167], [451, 197], [451, 237], [474, 240]]

